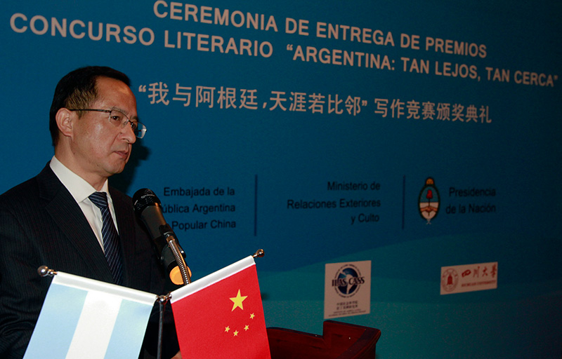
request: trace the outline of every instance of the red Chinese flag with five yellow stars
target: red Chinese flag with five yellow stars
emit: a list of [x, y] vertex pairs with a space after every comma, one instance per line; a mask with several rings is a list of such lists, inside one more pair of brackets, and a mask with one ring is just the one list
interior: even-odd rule
[[254, 258], [171, 293], [183, 358], [271, 358]]

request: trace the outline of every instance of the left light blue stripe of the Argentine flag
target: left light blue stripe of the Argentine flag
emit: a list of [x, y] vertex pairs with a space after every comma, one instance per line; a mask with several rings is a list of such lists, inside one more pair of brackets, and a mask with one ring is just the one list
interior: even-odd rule
[[[47, 280], [47, 279], [45, 279]], [[65, 358], [88, 291], [51, 283], [25, 359]]]

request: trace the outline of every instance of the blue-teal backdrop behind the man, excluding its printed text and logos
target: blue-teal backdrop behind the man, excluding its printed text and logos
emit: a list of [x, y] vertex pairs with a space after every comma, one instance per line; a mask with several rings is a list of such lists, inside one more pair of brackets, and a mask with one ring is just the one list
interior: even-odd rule
[[[148, 127], [126, 171], [112, 183], [132, 195], [150, 188], [164, 205], [235, 205], [235, 212], [166, 213], [169, 223], [235, 222], [234, 229], [179, 231], [195, 278], [258, 248], [266, 323], [320, 333], [325, 264], [372, 261], [371, 313], [341, 320], [377, 327], [377, 358], [560, 358], [562, 352], [561, 83], [517, 84], [517, 70], [560, 76], [562, 6], [554, 1], [190, 1], [222, 11], [270, 15], [278, 32], [157, 18], [155, 1], [5, 1], [1, 6], [0, 191], [37, 174], [53, 151], [48, 109], [57, 81], [84, 65], [131, 77]], [[170, 4], [170, 2], [168, 2]], [[160, 9], [164, 9], [161, 7]], [[62, 21], [152, 29], [155, 42], [51, 36], [10, 27], [14, 13]], [[309, 21], [309, 36], [285, 33], [285, 18]], [[18, 20], [19, 21], [19, 20]], [[315, 36], [315, 23], [381, 29], [395, 46]], [[18, 26], [29, 25], [17, 22]], [[270, 57], [165, 48], [164, 31], [269, 41]], [[421, 49], [400, 48], [417, 34]], [[426, 36], [484, 44], [484, 58], [426, 51]], [[174, 38], [175, 39], [175, 38]], [[185, 40], [185, 38], [184, 38]], [[292, 60], [287, 45], [387, 55], [394, 70]], [[480, 81], [403, 72], [400, 57], [474, 65]], [[485, 67], [511, 81], [486, 79]], [[140, 86], [166, 83], [168, 105]], [[176, 83], [191, 104], [172, 101]], [[195, 107], [197, 86], [256, 90], [258, 109]], [[215, 100], [217, 93], [215, 91]], [[285, 92], [286, 111], [272, 91]], [[356, 116], [289, 111], [291, 93], [360, 97]], [[490, 123], [422, 120], [374, 113], [375, 98], [459, 103], [489, 109]], [[307, 97], [308, 99], [308, 97]], [[237, 97], [237, 105], [240, 97]], [[263, 103], [266, 102], [266, 108]], [[426, 224], [418, 197], [427, 177], [440, 195]], [[377, 182], [379, 191], [328, 191], [328, 182]], [[233, 196], [164, 196], [164, 188], [235, 190]], [[492, 197], [450, 196], [450, 188], [495, 189]], [[294, 210], [287, 200], [381, 201], [379, 208]], [[495, 212], [447, 214], [447, 206], [495, 205]], [[351, 216], [379, 222], [351, 225]], [[496, 290], [440, 295], [440, 268], [498, 262]]]

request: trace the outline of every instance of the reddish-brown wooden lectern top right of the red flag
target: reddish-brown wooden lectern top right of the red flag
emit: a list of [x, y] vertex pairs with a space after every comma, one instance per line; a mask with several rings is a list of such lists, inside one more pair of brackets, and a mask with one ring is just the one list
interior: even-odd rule
[[271, 359], [367, 359], [374, 358], [381, 331], [326, 320], [323, 334], [284, 328], [267, 328]]

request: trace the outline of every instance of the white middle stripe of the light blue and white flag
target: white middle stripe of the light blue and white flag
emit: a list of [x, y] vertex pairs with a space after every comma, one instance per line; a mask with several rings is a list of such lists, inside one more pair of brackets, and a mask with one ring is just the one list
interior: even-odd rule
[[90, 291], [86, 295], [67, 359], [105, 357], [121, 302], [121, 298], [103, 292]]

